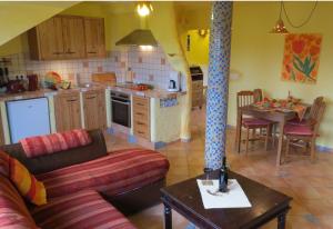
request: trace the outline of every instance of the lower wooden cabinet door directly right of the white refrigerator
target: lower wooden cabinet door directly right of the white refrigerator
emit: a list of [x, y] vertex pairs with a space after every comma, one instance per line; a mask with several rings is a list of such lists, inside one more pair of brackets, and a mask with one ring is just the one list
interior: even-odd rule
[[81, 128], [80, 93], [71, 92], [54, 97], [57, 131]]

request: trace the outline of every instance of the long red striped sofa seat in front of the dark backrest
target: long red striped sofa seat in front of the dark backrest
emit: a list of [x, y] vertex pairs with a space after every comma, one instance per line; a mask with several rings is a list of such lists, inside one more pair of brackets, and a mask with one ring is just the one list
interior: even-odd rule
[[37, 176], [48, 198], [82, 189], [121, 193], [165, 177], [169, 161], [161, 153], [147, 149], [127, 149], [80, 165]]

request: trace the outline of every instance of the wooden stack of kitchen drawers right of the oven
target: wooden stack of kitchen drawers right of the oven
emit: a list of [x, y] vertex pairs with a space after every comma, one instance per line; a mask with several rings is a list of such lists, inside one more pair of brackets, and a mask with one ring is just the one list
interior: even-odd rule
[[150, 140], [150, 99], [133, 96], [134, 136]]

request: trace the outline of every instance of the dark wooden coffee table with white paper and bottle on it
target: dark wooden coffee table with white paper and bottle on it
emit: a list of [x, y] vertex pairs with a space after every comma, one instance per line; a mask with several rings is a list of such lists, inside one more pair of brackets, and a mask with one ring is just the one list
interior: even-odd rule
[[[218, 178], [218, 171], [210, 176]], [[199, 176], [161, 189], [164, 203], [164, 228], [172, 228], [171, 210], [175, 210], [200, 228], [259, 228], [278, 218], [278, 228], [285, 228], [285, 216], [291, 197], [230, 171], [230, 178], [236, 179], [248, 196], [251, 208], [204, 209], [196, 179]]]

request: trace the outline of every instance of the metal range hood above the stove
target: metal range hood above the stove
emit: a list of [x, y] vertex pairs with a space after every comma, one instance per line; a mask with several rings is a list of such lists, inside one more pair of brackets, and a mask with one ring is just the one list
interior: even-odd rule
[[149, 29], [137, 29], [115, 42], [115, 46], [158, 46]]

